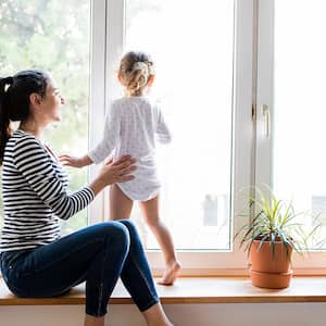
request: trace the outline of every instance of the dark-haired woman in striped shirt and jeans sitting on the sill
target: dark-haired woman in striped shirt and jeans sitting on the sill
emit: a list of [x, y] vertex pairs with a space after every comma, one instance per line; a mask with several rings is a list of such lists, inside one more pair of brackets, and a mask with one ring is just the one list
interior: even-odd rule
[[[79, 191], [66, 192], [67, 177], [42, 142], [61, 120], [61, 97], [42, 71], [0, 79], [0, 162], [4, 224], [1, 272], [17, 297], [65, 293], [86, 281], [85, 326], [104, 325], [108, 300], [121, 277], [147, 324], [171, 326], [159, 301], [137, 230], [128, 221], [101, 223], [60, 237], [59, 218], [86, 208], [104, 187], [133, 179], [135, 160], [109, 161]], [[18, 121], [17, 130], [10, 123]]]

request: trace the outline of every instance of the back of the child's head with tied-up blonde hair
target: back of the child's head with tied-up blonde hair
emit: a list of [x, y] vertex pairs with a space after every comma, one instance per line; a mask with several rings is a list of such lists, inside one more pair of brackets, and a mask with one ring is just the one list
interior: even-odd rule
[[128, 96], [141, 96], [150, 76], [154, 75], [153, 62], [145, 52], [127, 52], [121, 60], [118, 75]]

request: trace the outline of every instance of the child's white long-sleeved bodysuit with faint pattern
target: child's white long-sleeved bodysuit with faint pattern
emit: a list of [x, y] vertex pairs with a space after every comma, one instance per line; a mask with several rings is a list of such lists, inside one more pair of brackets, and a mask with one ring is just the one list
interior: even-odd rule
[[111, 104], [105, 117], [103, 138], [89, 152], [99, 163], [111, 154], [114, 158], [129, 154], [137, 160], [135, 179], [117, 184], [131, 200], [146, 201], [160, 190], [155, 165], [155, 139], [171, 141], [171, 134], [156, 103], [147, 97], [124, 97]]

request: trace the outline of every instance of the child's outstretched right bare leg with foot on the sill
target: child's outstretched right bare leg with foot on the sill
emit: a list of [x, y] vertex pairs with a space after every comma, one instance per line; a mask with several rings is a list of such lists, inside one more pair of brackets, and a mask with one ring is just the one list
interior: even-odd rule
[[165, 271], [159, 281], [161, 285], [173, 285], [180, 269], [180, 263], [176, 259], [172, 236], [162, 223], [159, 215], [159, 196], [139, 203], [146, 224], [154, 234], [164, 255]]

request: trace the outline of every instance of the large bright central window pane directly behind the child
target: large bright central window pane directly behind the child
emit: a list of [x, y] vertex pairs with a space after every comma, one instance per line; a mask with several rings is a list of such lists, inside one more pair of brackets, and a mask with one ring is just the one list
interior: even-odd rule
[[229, 249], [233, 41], [230, 0], [126, 1], [125, 50], [153, 57], [151, 93], [174, 136], [159, 163], [162, 217], [178, 249]]

